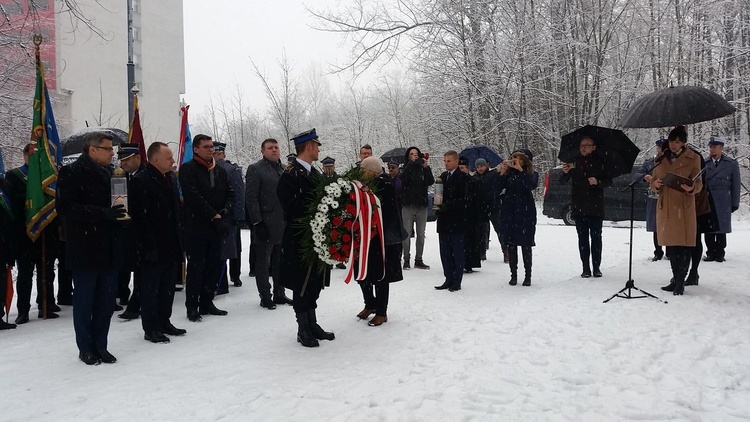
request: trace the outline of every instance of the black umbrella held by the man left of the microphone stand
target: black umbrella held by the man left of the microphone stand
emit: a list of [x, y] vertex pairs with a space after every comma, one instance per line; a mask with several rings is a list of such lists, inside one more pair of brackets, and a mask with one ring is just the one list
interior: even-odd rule
[[604, 168], [612, 178], [629, 174], [641, 151], [621, 130], [586, 125], [563, 135], [557, 158], [563, 163], [574, 162], [579, 154], [578, 145], [583, 138], [596, 141], [596, 152], [604, 159]]

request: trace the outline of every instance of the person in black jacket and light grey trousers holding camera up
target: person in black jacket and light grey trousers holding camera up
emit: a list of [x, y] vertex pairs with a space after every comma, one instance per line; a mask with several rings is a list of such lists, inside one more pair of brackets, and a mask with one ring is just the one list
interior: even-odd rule
[[[427, 187], [435, 183], [427, 158], [417, 147], [406, 149], [404, 168], [401, 172], [401, 219], [407, 232], [416, 237], [414, 268], [429, 270], [424, 263], [425, 227], [427, 226]], [[416, 225], [416, 230], [414, 226]], [[411, 268], [411, 238], [404, 240], [404, 269]]]

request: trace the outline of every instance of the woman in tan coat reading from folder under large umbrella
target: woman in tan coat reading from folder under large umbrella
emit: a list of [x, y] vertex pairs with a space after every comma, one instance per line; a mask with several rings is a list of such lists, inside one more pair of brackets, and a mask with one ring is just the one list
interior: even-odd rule
[[[685, 291], [685, 277], [690, 268], [690, 251], [695, 246], [697, 223], [694, 195], [701, 191], [701, 178], [692, 185], [679, 188], [664, 185], [668, 173], [693, 179], [701, 170], [698, 154], [685, 146], [687, 132], [678, 126], [669, 132], [669, 146], [659, 164], [654, 167], [651, 188], [659, 192], [656, 205], [656, 233], [659, 245], [666, 246], [672, 266], [672, 280], [662, 290], [681, 295]], [[659, 160], [659, 158], [657, 158]]]

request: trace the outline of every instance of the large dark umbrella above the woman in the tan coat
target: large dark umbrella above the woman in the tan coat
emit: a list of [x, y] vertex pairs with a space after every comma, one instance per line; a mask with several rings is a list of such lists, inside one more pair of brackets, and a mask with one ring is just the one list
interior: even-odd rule
[[622, 116], [620, 126], [658, 128], [718, 119], [736, 109], [719, 94], [699, 86], [673, 86], [641, 97]]

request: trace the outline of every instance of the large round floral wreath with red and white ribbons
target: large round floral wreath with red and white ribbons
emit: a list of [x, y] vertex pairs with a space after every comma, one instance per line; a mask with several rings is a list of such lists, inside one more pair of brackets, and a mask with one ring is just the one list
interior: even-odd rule
[[362, 176], [354, 168], [342, 176], [318, 177], [313, 201], [300, 221], [303, 262], [321, 270], [348, 263], [345, 283], [367, 277], [370, 241], [376, 235], [383, 239], [380, 199]]

